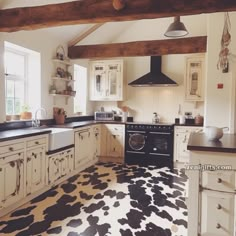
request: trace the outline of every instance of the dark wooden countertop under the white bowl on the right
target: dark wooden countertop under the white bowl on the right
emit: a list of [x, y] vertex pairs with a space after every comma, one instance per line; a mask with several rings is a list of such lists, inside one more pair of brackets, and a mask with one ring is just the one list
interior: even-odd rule
[[219, 141], [209, 141], [204, 133], [192, 133], [187, 149], [190, 151], [236, 153], [236, 134], [224, 134]]

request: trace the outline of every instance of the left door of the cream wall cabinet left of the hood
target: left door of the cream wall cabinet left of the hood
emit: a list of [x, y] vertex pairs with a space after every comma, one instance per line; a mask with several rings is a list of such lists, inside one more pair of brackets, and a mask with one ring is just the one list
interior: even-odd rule
[[106, 96], [106, 69], [104, 63], [92, 63], [91, 100], [101, 100]]

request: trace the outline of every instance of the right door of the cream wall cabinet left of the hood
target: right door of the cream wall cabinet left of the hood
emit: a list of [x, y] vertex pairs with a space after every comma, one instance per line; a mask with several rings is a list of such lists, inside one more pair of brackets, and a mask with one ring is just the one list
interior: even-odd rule
[[121, 94], [121, 65], [117, 63], [107, 65], [106, 97], [109, 100], [122, 100]]

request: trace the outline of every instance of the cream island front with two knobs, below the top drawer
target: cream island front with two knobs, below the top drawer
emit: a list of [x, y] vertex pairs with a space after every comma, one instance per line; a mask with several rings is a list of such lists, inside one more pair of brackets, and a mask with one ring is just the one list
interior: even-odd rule
[[204, 190], [201, 194], [201, 235], [234, 235], [234, 194]]

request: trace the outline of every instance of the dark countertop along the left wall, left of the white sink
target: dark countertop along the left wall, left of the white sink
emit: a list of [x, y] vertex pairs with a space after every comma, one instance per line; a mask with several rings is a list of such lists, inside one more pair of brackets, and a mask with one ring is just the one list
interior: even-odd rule
[[49, 134], [49, 133], [51, 133], [51, 131], [46, 129], [25, 128], [25, 129], [6, 130], [0, 132], [0, 142], [18, 138], [26, 138], [41, 134]]

